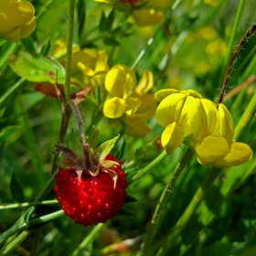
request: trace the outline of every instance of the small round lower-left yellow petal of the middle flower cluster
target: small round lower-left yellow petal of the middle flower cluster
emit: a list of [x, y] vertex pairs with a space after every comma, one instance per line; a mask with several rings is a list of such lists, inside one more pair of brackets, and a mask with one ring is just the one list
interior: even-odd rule
[[123, 99], [113, 97], [105, 102], [103, 113], [108, 118], [118, 118], [125, 112], [126, 103]]

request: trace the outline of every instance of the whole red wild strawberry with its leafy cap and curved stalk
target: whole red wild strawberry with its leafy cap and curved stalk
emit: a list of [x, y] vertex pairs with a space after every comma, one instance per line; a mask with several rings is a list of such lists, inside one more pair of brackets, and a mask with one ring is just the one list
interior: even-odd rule
[[62, 209], [69, 218], [84, 226], [106, 222], [123, 208], [127, 181], [121, 162], [110, 155], [118, 136], [96, 148], [99, 130], [93, 131], [86, 141], [80, 111], [75, 101], [69, 104], [77, 118], [80, 129], [79, 140], [73, 133], [69, 146], [55, 145], [54, 154], [65, 156], [55, 176], [54, 191]]

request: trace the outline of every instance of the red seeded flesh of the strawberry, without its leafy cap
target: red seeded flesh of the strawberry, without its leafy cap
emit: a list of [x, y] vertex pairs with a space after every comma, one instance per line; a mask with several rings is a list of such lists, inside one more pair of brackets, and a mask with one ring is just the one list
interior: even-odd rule
[[[108, 155], [106, 160], [121, 164], [112, 155]], [[112, 172], [100, 171], [98, 176], [82, 172], [79, 180], [76, 170], [59, 168], [59, 173], [55, 176], [54, 191], [69, 218], [74, 219], [76, 223], [90, 226], [104, 223], [117, 215], [124, 205], [127, 181], [121, 165], [113, 166], [112, 170], [118, 176], [115, 187]]]

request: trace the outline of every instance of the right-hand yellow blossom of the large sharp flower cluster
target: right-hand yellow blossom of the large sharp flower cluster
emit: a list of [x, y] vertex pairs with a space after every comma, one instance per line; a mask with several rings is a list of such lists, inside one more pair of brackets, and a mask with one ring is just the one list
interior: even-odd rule
[[228, 109], [211, 101], [196, 100], [190, 112], [192, 147], [201, 165], [222, 168], [242, 165], [251, 159], [251, 147], [233, 142], [234, 124]]

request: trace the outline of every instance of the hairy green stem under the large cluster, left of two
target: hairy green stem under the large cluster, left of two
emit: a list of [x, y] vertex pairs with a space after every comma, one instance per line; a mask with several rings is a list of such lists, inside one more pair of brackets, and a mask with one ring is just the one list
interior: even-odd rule
[[157, 206], [155, 208], [154, 216], [151, 220], [150, 227], [147, 231], [146, 238], [144, 240], [144, 255], [148, 255], [148, 253], [149, 253], [151, 241], [155, 234], [155, 227], [157, 224], [157, 220], [160, 216], [160, 212], [161, 212], [162, 208], [165, 206], [165, 202], [166, 202], [167, 198], [170, 195], [171, 189], [173, 189], [173, 187], [175, 186], [177, 178], [180, 176], [182, 170], [185, 168], [185, 166], [187, 165], [188, 161], [191, 159], [193, 154], [194, 154], [194, 151], [192, 151], [190, 148], [187, 148], [187, 151], [182, 156], [180, 162], [176, 165], [176, 169], [172, 173], [172, 176], [171, 176], [169, 182], [166, 184], [166, 186], [164, 188], [164, 191], [163, 191], [163, 193], [157, 203]]

